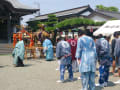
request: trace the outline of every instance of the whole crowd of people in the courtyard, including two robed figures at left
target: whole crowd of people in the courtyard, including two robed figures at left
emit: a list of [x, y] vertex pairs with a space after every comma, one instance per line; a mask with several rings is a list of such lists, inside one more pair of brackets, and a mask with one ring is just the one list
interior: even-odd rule
[[[57, 38], [56, 58], [59, 62], [60, 80], [64, 82], [66, 68], [69, 81], [73, 81], [74, 72], [80, 72], [82, 90], [95, 90], [96, 64], [99, 63], [99, 86], [106, 87], [109, 81], [110, 66], [114, 76], [120, 77], [120, 33], [114, 33], [110, 43], [110, 36], [100, 34], [97, 39], [87, 36], [85, 31], [78, 32], [78, 38]], [[53, 60], [53, 45], [49, 37], [43, 42], [43, 52], [46, 60]], [[19, 41], [13, 51], [14, 65], [24, 66], [24, 42]], [[118, 74], [115, 73], [116, 62]], [[115, 82], [120, 83], [120, 79]]]

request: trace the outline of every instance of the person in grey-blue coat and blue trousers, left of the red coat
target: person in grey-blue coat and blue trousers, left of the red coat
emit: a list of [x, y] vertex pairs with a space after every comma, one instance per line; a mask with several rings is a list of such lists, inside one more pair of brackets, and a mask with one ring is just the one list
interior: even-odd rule
[[71, 47], [64, 38], [59, 38], [59, 42], [56, 47], [56, 57], [60, 60], [60, 80], [57, 82], [64, 82], [66, 67], [69, 73], [69, 81], [73, 81]]

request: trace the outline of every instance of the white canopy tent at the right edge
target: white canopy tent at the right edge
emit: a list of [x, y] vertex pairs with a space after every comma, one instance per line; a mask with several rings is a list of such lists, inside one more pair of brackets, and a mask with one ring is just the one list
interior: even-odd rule
[[93, 35], [98, 36], [99, 34], [102, 34], [104, 36], [109, 36], [116, 31], [120, 31], [120, 20], [112, 20], [106, 22], [103, 26], [96, 30]]

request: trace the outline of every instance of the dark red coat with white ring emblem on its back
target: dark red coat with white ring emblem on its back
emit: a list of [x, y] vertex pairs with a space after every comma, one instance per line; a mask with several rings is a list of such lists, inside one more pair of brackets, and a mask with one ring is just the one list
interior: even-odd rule
[[77, 40], [75, 40], [75, 39], [69, 39], [68, 43], [71, 46], [72, 60], [76, 60], [75, 54], [76, 54], [76, 48], [77, 48]]

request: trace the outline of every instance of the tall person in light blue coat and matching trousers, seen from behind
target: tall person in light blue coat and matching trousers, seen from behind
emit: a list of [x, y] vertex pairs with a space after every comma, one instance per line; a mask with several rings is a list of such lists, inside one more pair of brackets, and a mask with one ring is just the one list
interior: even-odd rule
[[79, 31], [77, 41], [76, 58], [79, 62], [82, 90], [95, 90], [95, 71], [97, 53], [94, 40], [85, 35], [85, 31]]

